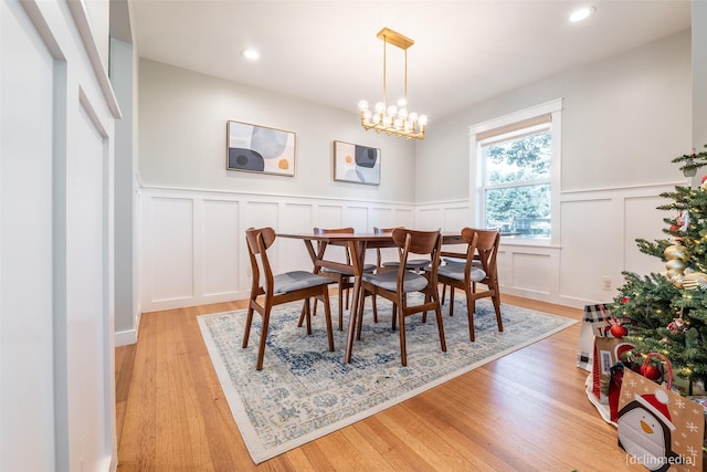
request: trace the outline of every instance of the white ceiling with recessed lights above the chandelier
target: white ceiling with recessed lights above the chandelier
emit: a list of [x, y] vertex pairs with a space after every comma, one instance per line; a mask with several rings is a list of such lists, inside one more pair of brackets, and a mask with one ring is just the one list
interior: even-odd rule
[[[130, 0], [141, 57], [357, 112], [382, 95], [383, 27], [408, 50], [409, 109], [430, 122], [489, 97], [690, 27], [690, 2], [570, 0]], [[255, 48], [257, 62], [240, 52]], [[389, 102], [403, 52], [388, 46]]]

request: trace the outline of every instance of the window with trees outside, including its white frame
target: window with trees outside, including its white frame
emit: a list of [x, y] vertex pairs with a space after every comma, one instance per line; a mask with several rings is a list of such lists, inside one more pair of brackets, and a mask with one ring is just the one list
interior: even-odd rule
[[561, 101], [472, 127], [477, 220], [518, 240], [558, 242]]

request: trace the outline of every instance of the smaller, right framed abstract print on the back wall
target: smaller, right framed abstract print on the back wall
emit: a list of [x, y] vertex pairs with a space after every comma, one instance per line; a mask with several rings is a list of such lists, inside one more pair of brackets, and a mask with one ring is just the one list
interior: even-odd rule
[[380, 185], [380, 149], [351, 143], [334, 141], [334, 180]]

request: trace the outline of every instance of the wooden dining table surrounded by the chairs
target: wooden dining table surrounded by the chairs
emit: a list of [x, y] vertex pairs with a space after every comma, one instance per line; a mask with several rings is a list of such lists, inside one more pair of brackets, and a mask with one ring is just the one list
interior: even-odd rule
[[[460, 232], [442, 232], [442, 244], [466, 244]], [[354, 273], [354, 296], [351, 298], [349, 326], [346, 337], [346, 350], [344, 361], [351, 361], [354, 352], [354, 336], [356, 333], [356, 313], [360, 301], [361, 276], [363, 275], [363, 263], [366, 251], [376, 248], [395, 248], [392, 232], [386, 233], [277, 233], [277, 238], [298, 239], [304, 241], [307, 253], [314, 265], [314, 273], [319, 273], [323, 268], [339, 271], [350, 271]], [[323, 243], [323, 244], [315, 244]], [[315, 249], [315, 245], [317, 249]], [[325, 259], [327, 245], [347, 247], [351, 255], [351, 263]], [[444, 254], [444, 253], [442, 253]]]

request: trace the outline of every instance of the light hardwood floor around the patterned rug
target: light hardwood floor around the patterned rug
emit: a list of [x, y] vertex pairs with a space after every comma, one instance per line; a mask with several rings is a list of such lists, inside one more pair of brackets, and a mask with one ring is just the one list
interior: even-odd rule
[[[504, 303], [581, 318], [576, 308]], [[644, 470], [587, 399], [579, 324], [256, 466], [197, 324], [245, 306], [143, 314], [138, 343], [116, 349], [118, 471]]]

